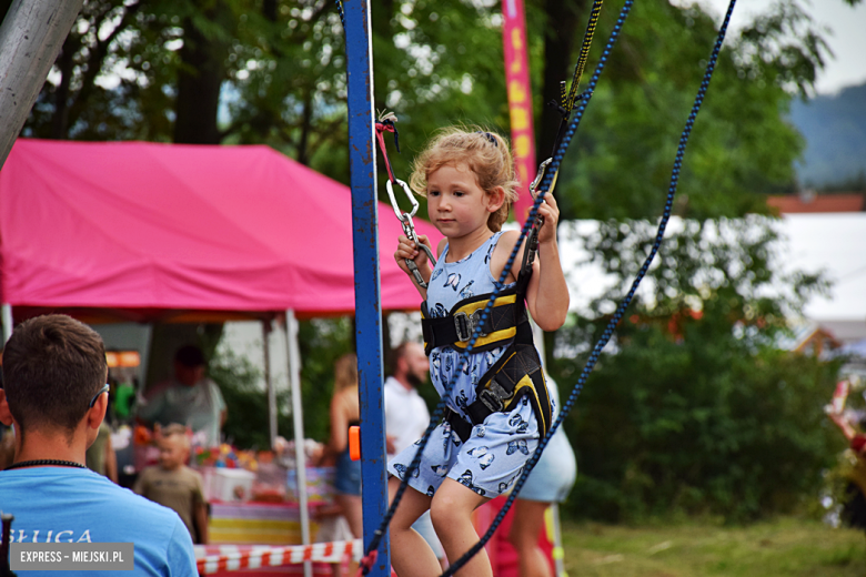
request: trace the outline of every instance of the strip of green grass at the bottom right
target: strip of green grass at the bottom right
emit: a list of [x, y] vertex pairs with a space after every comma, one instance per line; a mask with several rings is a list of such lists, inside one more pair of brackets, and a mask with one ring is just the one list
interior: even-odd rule
[[563, 524], [570, 577], [863, 577], [866, 537], [783, 518], [747, 527]]

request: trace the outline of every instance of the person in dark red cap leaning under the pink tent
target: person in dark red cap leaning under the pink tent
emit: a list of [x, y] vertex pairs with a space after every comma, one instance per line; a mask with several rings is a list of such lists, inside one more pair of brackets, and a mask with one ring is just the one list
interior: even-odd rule
[[160, 426], [184, 425], [192, 429], [193, 444], [219, 446], [228, 408], [220, 387], [205, 376], [205, 365], [204, 354], [198, 346], [179, 348], [174, 355], [174, 377], [157, 385], [153, 394], [139, 405], [139, 421]]

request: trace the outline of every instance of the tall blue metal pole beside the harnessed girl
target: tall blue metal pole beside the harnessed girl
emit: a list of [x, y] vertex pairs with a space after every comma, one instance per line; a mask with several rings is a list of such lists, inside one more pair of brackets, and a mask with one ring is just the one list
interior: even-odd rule
[[[370, 0], [344, 0], [349, 77], [349, 166], [352, 173], [352, 242], [355, 265], [355, 325], [361, 403], [361, 476], [364, 547], [387, 512], [385, 414], [382, 395], [382, 307], [379, 280], [379, 214], [373, 118], [373, 55]], [[391, 575], [389, 540], [369, 575]]]

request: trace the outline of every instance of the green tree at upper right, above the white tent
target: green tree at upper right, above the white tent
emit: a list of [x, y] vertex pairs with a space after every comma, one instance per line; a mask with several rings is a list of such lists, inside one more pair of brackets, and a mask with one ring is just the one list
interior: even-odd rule
[[[587, 11], [591, 2], [573, 4]], [[605, 6], [591, 65], [614, 19], [615, 9]], [[643, 219], [661, 212], [717, 27], [697, 6], [635, 3], [564, 161], [557, 198], [566, 217]], [[765, 212], [765, 193], [793, 189], [793, 162], [803, 143], [785, 114], [797, 93], [810, 90], [827, 54], [814, 24], [789, 1], [739, 34], [728, 32], [688, 144], [677, 213], [707, 219]], [[554, 90], [553, 62], [545, 57], [542, 64], [546, 99]], [[567, 74], [558, 71], [561, 80]], [[540, 154], [550, 154], [550, 126], [557, 124], [557, 113], [543, 109]]]

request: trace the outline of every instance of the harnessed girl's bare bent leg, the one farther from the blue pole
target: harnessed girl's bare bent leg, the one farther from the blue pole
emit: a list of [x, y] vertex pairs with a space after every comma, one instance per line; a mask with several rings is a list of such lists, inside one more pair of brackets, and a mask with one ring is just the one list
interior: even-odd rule
[[[472, 525], [472, 512], [489, 500], [452, 478], [446, 478], [436, 490], [430, 516], [449, 563], [453, 564], [479, 543], [479, 534]], [[455, 575], [493, 577], [493, 569], [484, 548], [482, 547]]]

